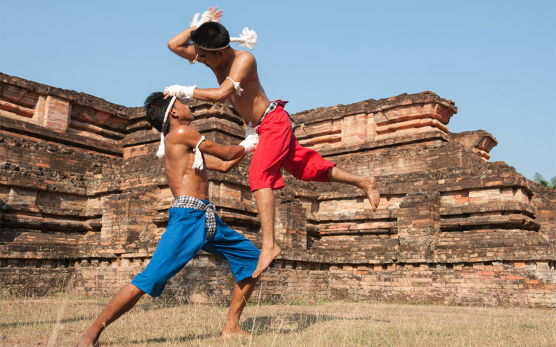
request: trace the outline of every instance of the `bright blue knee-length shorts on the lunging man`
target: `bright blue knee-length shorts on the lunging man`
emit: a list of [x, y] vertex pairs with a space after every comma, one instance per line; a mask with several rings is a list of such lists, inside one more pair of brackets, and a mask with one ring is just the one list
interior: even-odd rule
[[[202, 201], [208, 204], [208, 201]], [[237, 282], [252, 276], [261, 251], [220, 217], [215, 216], [216, 231], [207, 242], [203, 210], [170, 208], [168, 214], [166, 231], [145, 271], [131, 281], [133, 285], [150, 296], [160, 296], [167, 280], [183, 269], [201, 249], [227, 260]]]

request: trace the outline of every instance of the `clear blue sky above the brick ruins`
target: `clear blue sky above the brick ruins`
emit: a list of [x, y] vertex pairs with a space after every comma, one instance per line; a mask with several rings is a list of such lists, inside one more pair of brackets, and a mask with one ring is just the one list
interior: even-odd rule
[[556, 1], [0, 0], [0, 71], [140, 106], [175, 83], [215, 87], [167, 40], [217, 5], [288, 110], [431, 90], [455, 101], [452, 132], [484, 129], [491, 161], [556, 176]]

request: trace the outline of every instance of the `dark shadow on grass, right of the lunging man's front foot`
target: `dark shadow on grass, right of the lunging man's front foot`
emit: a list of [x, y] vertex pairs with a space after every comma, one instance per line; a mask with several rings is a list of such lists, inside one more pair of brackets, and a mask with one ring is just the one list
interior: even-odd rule
[[[265, 333], [278, 333], [278, 334], [288, 334], [291, 332], [302, 332], [306, 328], [316, 323], [323, 323], [326, 321], [377, 321], [382, 323], [390, 323], [384, 319], [374, 319], [372, 317], [359, 317], [352, 319], [345, 319], [335, 316], [327, 316], [322, 314], [306, 314], [306, 313], [294, 313], [286, 314], [282, 316], [262, 316], [262, 317], [251, 317], [243, 322], [242, 328], [248, 332], [253, 332], [253, 335], [262, 335]], [[280, 328], [274, 328], [276, 326]], [[291, 328], [281, 328], [283, 326]]]

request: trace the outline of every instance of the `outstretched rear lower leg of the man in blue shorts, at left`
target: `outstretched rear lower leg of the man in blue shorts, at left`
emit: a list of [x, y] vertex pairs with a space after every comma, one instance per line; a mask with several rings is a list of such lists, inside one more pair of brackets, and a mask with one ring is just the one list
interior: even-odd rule
[[131, 310], [131, 307], [133, 307], [143, 295], [145, 295], [145, 291], [138, 289], [138, 287], [131, 283], [120, 289], [110, 303], [104, 307], [104, 310], [102, 310], [95, 323], [92, 323], [91, 327], [83, 333], [83, 337], [81, 337], [81, 340], [79, 340], [75, 346], [94, 346], [102, 330], [104, 330], [108, 324], [120, 318], [122, 314]]

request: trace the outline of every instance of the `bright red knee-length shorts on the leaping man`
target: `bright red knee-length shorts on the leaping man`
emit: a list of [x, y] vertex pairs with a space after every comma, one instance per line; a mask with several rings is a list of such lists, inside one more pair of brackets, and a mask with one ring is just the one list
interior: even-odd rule
[[335, 166], [334, 162], [297, 142], [288, 114], [277, 106], [259, 128], [259, 144], [249, 168], [249, 184], [253, 192], [262, 188], [283, 188], [281, 167], [298, 180], [329, 182], [328, 170]]

